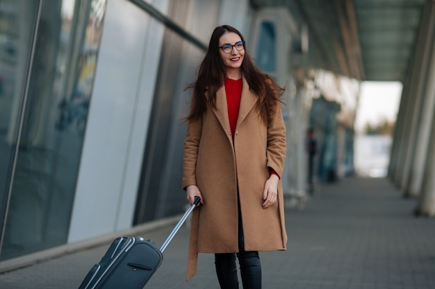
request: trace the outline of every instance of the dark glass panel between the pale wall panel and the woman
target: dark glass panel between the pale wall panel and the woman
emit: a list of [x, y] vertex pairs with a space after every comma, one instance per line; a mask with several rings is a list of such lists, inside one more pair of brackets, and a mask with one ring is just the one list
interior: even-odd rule
[[[167, 13], [186, 29], [188, 2], [172, 1]], [[217, 13], [217, 7], [208, 5], [207, 1], [195, 6], [192, 12], [194, 19], [210, 18], [210, 15]], [[213, 21], [202, 21], [201, 26], [194, 26], [190, 30], [195, 35], [199, 34], [199, 30], [206, 30], [205, 43], [213, 28]], [[195, 81], [197, 65], [204, 53], [204, 49], [165, 28], [134, 225], [173, 216], [183, 211], [183, 205], [186, 204], [186, 194], [181, 189], [183, 142], [186, 135], [186, 124], [182, 120], [188, 114], [192, 91], [185, 91], [185, 88], [188, 83]], [[159, 193], [151, 193], [157, 191]]]

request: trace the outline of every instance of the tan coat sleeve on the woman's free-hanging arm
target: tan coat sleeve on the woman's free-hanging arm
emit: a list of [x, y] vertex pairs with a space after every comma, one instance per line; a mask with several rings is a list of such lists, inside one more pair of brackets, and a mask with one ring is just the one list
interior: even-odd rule
[[284, 124], [281, 105], [277, 103], [270, 112], [270, 122], [268, 124], [267, 165], [280, 177], [284, 172], [286, 147], [286, 125]]

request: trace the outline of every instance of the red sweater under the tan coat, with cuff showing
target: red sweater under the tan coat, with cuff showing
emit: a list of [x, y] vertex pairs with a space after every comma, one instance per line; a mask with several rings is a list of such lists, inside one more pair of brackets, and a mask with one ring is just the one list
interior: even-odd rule
[[[236, 124], [238, 119], [238, 111], [240, 109], [240, 99], [242, 98], [242, 78], [238, 80], [233, 80], [230, 78], [225, 78], [225, 94], [227, 94], [227, 107], [228, 107], [228, 118], [229, 127], [231, 128], [231, 136], [234, 139], [234, 134], [236, 133]], [[270, 174], [279, 175], [272, 169], [269, 168]]]

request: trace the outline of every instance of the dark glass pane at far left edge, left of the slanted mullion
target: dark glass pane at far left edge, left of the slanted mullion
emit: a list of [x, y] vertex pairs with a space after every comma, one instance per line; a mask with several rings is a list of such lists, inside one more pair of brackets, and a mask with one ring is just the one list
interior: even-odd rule
[[0, 227], [6, 216], [26, 69], [38, 10], [38, 1], [26, 5], [19, 5], [20, 2], [0, 3]]

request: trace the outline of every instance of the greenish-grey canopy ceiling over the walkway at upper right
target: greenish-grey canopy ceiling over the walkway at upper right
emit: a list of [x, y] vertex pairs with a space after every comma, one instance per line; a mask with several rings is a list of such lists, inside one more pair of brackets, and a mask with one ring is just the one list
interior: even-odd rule
[[285, 7], [306, 25], [306, 66], [372, 81], [404, 79], [425, 1], [432, 0], [251, 0]]

